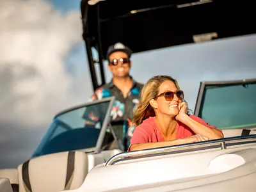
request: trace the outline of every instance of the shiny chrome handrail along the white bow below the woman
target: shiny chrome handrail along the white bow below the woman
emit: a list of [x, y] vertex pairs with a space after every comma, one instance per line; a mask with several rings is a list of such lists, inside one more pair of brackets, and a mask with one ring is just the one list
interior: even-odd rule
[[[202, 143], [187, 143], [183, 144], [182, 146], [180, 145], [175, 145], [175, 146], [170, 146], [170, 147], [161, 147], [161, 148], [150, 148], [150, 149], [145, 149], [145, 150], [136, 150], [132, 152], [122, 152], [120, 154], [116, 154], [115, 156], [111, 157], [108, 162], [105, 164], [105, 166], [112, 165], [117, 159], [120, 158], [125, 158], [125, 157], [132, 157], [132, 156], [145, 156], [145, 155], [150, 155], [150, 154], [159, 154], [159, 153], [164, 153], [164, 152], [175, 152], [179, 150], [188, 150], [188, 149], [195, 149], [195, 148], [202, 148], [202, 147], [210, 147], [213, 145], [216, 145], [217, 147], [220, 147], [221, 150], [224, 150], [227, 148], [228, 143], [239, 143], [239, 142], [251, 142], [255, 141], [256, 142], [256, 135], [255, 136], [250, 136], [249, 138], [234, 138], [227, 140], [228, 138], [222, 139], [221, 141], [203, 141]], [[245, 143], [243, 143], [245, 144]], [[239, 145], [239, 144], [238, 144]]]

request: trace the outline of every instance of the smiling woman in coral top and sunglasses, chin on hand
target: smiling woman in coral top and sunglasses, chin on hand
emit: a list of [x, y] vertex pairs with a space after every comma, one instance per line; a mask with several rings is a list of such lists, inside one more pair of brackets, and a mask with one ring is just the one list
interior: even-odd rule
[[129, 150], [166, 147], [223, 138], [221, 130], [188, 115], [184, 93], [170, 76], [155, 76], [141, 90], [134, 110], [136, 129]]

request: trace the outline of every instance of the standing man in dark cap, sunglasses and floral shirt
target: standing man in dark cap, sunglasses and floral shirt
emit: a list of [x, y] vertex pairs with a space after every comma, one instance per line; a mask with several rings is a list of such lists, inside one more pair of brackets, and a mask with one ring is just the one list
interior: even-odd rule
[[[108, 69], [113, 78], [110, 83], [104, 84], [93, 93], [91, 99], [97, 100], [110, 96], [115, 96], [116, 100], [111, 111], [111, 125], [116, 138], [124, 145], [124, 150], [129, 146], [127, 131], [129, 136], [134, 129], [131, 119], [134, 106], [138, 103], [139, 93], [143, 84], [138, 83], [130, 76], [132, 62], [130, 60], [132, 51], [129, 47], [120, 42], [108, 48], [106, 58], [108, 59]], [[84, 113], [87, 125], [95, 125], [99, 122], [99, 111], [88, 110]]]

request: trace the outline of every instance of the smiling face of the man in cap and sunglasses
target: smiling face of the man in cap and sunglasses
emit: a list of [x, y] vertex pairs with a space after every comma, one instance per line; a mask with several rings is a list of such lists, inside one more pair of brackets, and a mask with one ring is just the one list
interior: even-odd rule
[[129, 76], [131, 61], [125, 52], [117, 51], [109, 55], [108, 69], [113, 74], [113, 77]]

